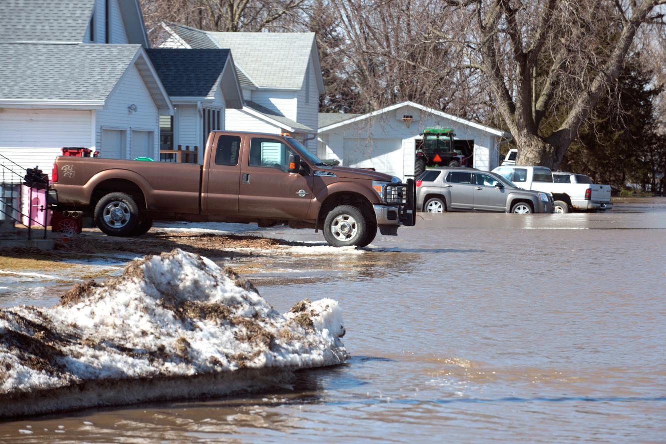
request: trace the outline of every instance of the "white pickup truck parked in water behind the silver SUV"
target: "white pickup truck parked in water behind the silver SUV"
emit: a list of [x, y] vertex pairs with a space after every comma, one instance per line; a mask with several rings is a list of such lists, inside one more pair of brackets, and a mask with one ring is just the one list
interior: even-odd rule
[[[568, 213], [573, 210], [609, 210], [611, 186], [591, 183], [583, 174], [551, 172], [545, 166], [502, 165], [493, 170], [503, 178], [526, 190], [549, 192], [553, 195], [555, 212]], [[568, 174], [565, 177], [560, 175]], [[557, 179], [553, 180], [553, 176]], [[571, 176], [574, 176], [573, 178]], [[577, 178], [575, 176], [581, 176]], [[587, 178], [587, 182], [583, 178]]]

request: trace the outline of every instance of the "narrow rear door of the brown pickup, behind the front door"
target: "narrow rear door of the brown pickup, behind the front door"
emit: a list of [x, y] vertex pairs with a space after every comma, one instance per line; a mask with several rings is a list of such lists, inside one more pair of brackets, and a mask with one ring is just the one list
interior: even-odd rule
[[210, 153], [204, 176], [204, 180], [207, 178], [207, 184], [202, 187], [206, 214], [211, 216], [238, 214], [239, 156], [242, 152], [240, 143], [240, 136], [227, 134], [220, 134], [214, 141], [215, 152]]

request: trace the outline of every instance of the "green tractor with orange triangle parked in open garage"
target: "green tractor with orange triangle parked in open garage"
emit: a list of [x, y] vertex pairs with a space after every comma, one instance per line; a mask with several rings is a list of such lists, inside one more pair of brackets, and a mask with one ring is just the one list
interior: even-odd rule
[[452, 128], [426, 128], [416, 140], [414, 177], [426, 170], [426, 166], [467, 166], [468, 156], [457, 150]]

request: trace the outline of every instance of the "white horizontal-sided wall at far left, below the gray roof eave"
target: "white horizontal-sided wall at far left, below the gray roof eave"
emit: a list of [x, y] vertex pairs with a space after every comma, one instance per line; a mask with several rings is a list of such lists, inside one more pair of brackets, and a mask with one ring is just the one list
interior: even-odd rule
[[[0, 154], [21, 165], [39, 166], [51, 175], [63, 146], [92, 148], [92, 117], [95, 111], [0, 109]], [[7, 163], [0, 158], [2, 163]], [[18, 168], [18, 167], [17, 167]], [[0, 182], [9, 177], [2, 176]]]

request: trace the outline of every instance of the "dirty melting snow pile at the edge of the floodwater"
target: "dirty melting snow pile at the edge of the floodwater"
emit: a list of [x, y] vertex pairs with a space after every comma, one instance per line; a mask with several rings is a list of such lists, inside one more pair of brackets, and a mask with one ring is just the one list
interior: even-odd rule
[[230, 268], [173, 250], [53, 308], [0, 310], [0, 416], [221, 395], [348, 354], [338, 303], [284, 316]]

